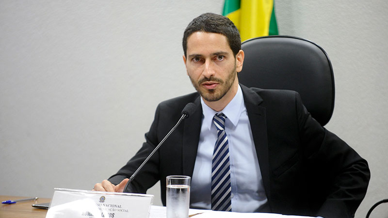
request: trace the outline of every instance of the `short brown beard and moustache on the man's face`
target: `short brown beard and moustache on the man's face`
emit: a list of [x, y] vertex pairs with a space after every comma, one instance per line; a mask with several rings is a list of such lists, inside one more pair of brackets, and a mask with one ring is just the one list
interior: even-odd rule
[[[225, 81], [220, 78], [215, 78], [213, 76], [211, 76], [210, 78], [201, 78], [199, 81], [194, 81], [193, 78], [189, 76], [195, 90], [202, 96], [203, 99], [209, 102], [218, 101], [222, 97], [224, 97], [225, 94], [232, 87], [236, 77], [237, 77], [236, 63], [234, 64], [234, 68], [230, 70], [230, 72], [228, 73]], [[205, 89], [204, 87], [202, 87], [201, 84], [203, 82], [208, 82], [208, 81], [217, 82], [219, 83], [219, 85], [216, 87], [216, 89]]]

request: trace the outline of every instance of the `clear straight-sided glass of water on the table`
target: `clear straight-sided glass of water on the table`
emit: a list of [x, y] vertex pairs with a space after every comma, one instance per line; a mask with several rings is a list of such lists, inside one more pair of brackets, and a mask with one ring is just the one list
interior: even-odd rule
[[167, 176], [167, 218], [188, 218], [190, 203], [190, 176]]

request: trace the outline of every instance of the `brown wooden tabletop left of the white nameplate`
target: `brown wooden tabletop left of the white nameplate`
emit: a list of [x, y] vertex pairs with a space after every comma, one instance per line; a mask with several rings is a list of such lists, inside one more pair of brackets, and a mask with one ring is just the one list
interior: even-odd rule
[[[8, 195], [0, 195], [0, 201], [7, 200], [17, 200], [33, 198], [30, 197], [16, 197]], [[49, 198], [38, 198], [36, 201], [25, 201], [25, 202], [16, 202], [12, 204], [3, 204], [0, 205], [0, 218], [45, 218], [47, 210], [37, 209], [32, 207], [33, 203], [45, 203], [50, 202]]]

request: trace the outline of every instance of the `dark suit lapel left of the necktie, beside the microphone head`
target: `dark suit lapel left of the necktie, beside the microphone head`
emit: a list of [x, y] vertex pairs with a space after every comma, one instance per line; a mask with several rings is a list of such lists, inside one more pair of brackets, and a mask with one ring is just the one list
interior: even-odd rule
[[[198, 96], [194, 104], [196, 109], [194, 113], [184, 120], [183, 126], [183, 175], [193, 176], [195, 157], [197, 156], [199, 133], [201, 131], [202, 123], [202, 106], [201, 100]], [[174, 157], [172, 157], [174, 158]]]

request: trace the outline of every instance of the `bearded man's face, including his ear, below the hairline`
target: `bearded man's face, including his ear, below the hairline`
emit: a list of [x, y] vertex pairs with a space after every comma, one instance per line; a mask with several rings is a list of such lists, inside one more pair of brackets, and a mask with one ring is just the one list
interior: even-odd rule
[[241, 71], [242, 62], [240, 64], [233, 55], [226, 36], [194, 32], [187, 38], [186, 54], [183, 60], [187, 74], [204, 100], [218, 101], [228, 94], [233, 85], [237, 87], [237, 72]]

